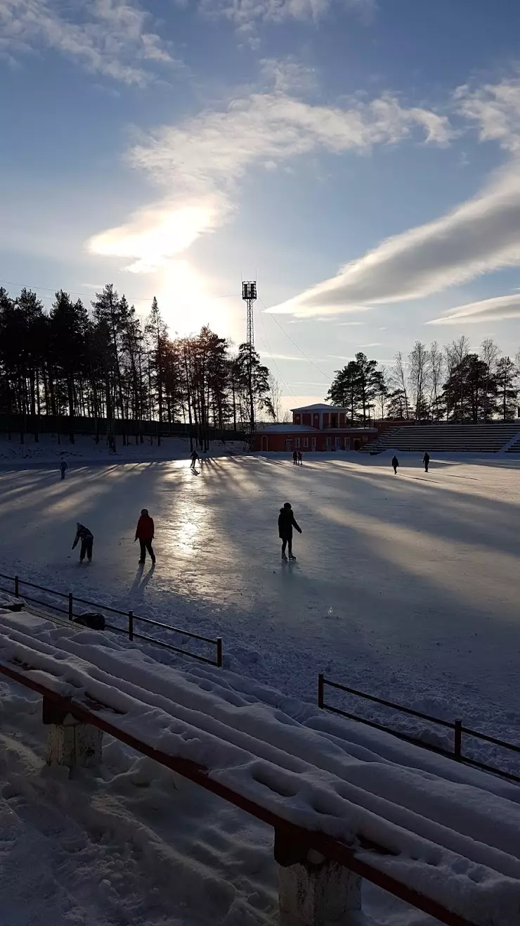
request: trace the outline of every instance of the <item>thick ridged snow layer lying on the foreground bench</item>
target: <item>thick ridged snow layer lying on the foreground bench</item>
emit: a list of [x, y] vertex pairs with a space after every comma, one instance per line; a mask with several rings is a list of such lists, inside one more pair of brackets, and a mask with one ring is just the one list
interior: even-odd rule
[[[260, 806], [394, 856], [372, 864], [482, 926], [520, 916], [520, 790], [216, 669], [171, 669], [130, 644], [0, 614], [0, 661]], [[118, 713], [114, 713], [117, 711]]]

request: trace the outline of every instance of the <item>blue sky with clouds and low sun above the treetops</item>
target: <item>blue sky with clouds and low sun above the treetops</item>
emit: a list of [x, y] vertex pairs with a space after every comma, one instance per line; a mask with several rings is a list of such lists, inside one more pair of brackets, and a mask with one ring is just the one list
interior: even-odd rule
[[114, 282], [286, 404], [362, 350], [520, 346], [520, 4], [0, 0], [0, 285]]

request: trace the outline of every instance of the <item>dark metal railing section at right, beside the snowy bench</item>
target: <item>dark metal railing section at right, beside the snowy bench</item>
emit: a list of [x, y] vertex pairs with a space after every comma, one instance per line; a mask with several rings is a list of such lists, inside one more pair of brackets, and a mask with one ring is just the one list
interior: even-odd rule
[[[365, 701], [370, 701], [372, 704], [377, 704], [382, 707], [390, 707], [390, 709], [399, 711], [401, 714], [406, 714], [409, 717], [415, 717], [418, 720], [426, 720], [428, 723], [433, 723], [438, 727], [451, 730], [453, 733], [453, 749], [444, 749], [442, 746], [428, 743], [427, 740], [421, 739], [418, 736], [412, 736], [407, 732], [395, 730], [384, 723], [378, 723], [377, 720], [367, 720], [367, 718], [360, 714], [353, 714], [350, 711], [342, 710], [340, 707], [326, 704], [326, 685], [328, 685], [329, 688], [336, 689], [337, 691], [345, 692], [346, 694], [353, 694], [355, 697], [363, 698]], [[373, 727], [376, 730], [390, 733], [392, 736], [397, 736], [399, 739], [404, 740], [406, 743], [412, 743], [413, 745], [421, 746], [424, 749], [429, 749], [430, 752], [439, 753], [440, 756], [445, 756], [452, 758], [457, 762], [462, 762], [464, 765], [470, 765], [475, 769], [489, 771], [494, 775], [500, 775], [501, 778], [505, 778], [508, 781], [520, 783], [520, 776], [514, 775], [513, 772], [499, 769], [497, 766], [488, 765], [485, 762], [479, 762], [475, 758], [464, 755], [463, 734], [465, 736], [481, 740], [484, 743], [499, 746], [501, 749], [508, 749], [510, 752], [518, 754], [520, 754], [520, 746], [515, 745], [514, 743], [507, 743], [504, 740], [498, 739], [496, 736], [489, 736], [487, 733], [480, 733], [477, 730], [472, 730], [470, 727], [464, 726], [462, 720], [451, 721], [441, 720], [439, 717], [432, 717], [430, 714], [424, 714], [420, 710], [414, 710], [412, 707], [403, 707], [401, 704], [395, 704], [394, 701], [387, 701], [384, 698], [376, 697], [374, 694], [366, 694], [365, 692], [360, 692], [356, 688], [350, 688], [348, 685], [340, 684], [340, 682], [331, 682], [330, 679], [326, 679], [321, 672], [317, 677], [317, 705], [324, 710], [331, 711], [333, 714], [339, 714], [340, 717], [346, 717], [349, 720], [357, 720], [360, 723], [365, 723], [365, 725], [368, 727]]]

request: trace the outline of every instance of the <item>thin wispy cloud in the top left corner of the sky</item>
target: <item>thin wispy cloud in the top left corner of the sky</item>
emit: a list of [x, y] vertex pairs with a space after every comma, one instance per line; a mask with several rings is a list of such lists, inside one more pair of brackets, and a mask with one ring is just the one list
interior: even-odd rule
[[167, 44], [146, 31], [148, 14], [122, 0], [0, 0], [0, 52], [9, 56], [50, 48], [92, 73], [128, 84], [151, 80], [150, 67], [172, 64]]

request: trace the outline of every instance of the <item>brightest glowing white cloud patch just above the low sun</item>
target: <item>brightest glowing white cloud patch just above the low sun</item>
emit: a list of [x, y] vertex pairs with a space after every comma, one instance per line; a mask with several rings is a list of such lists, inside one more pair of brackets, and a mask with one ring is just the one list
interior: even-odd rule
[[94, 235], [87, 242], [92, 254], [130, 257], [125, 269], [150, 273], [185, 251], [203, 232], [215, 228], [216, 209], [202, 203], [162, 203], [134, 212], [125, 225]]

